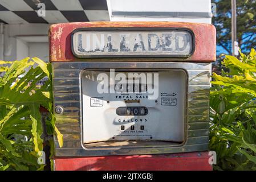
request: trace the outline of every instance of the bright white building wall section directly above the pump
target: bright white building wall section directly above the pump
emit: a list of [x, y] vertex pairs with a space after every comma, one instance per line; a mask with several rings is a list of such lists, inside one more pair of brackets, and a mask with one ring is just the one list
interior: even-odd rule
[[211, 23], [210, 0], [107, 0], [111, 21]]

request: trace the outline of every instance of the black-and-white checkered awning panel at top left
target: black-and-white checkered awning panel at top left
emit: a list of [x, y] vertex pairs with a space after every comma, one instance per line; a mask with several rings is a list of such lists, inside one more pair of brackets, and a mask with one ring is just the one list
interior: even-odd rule
[[[44, 3], [46, 16], [38, 16]], [[109, 21], [106, 0], [0, 0], [0, 23], [64, 23]]]

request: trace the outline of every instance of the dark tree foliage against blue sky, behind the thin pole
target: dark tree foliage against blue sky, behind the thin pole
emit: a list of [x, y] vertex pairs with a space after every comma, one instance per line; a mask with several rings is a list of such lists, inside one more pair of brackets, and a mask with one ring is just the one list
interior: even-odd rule
[[[214, 0], [214, 3], [217, 5], [217, 16], [213, 17], [217, 29], [217, 45], [231, 55], [231, 1]], [[255, 34], [256, 0], [237, 0], [237, 41], [243, 52], [256, 47]]]

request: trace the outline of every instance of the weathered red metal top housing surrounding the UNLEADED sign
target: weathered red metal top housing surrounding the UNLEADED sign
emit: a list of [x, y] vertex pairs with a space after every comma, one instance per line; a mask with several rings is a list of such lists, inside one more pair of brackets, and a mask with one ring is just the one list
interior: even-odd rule
[[[71, 34], [77, 28], [186, 28], [194, 34], [195, 49], [187, 58], [163, 58], [161, 61], [212, 62], [216, 60], [216, 29], [211, 24], [179, 22], [79, 22], [60, 23], [50, 27], [50, 61], [92, 61], [72, 53]], [[93, 61], [138, 61], [138, 59], [93, 59]], [[152, 57], [139, 61], [156, 61]]]

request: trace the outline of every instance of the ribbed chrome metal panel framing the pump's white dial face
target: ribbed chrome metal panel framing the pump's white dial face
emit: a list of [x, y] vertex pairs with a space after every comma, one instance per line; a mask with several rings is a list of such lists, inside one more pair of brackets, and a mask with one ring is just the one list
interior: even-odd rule
[[[138, 60], [139, 61], [139, 60]], [[158, 60], [159, 61], [159, 60]], [[55, 156], [102, 156], [168, 154], [208, 150], [210, 63], [167, 62], [55, 62], [53, 65], [56, 126], [63, 134], [60, 148], [55, 137]], [[85, 147], [82, 143], [82, 98], [80, 72], [84, 69], [184, 69], [188, 73], [186, 141], [180, 145]]]

